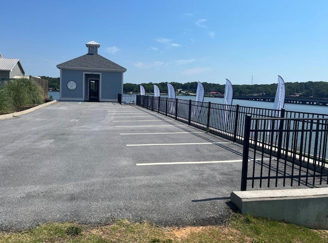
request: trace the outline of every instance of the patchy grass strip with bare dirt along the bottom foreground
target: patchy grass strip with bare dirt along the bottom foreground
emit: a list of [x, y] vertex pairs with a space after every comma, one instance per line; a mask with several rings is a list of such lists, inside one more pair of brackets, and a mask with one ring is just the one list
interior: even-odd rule
[[45, 224], [24, 232], [1, 233], [0, 242], [327, 242], [328, 231], [234, 214], [221, 226], [163, 228], [149, 222], [117, 220], [107, 226]]

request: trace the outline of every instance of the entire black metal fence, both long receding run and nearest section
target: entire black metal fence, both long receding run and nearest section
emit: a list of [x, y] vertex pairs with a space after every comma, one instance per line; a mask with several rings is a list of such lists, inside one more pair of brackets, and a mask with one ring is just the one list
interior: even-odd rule
[[[121, 100], [131, 97], [122, 95]], [[327, 184], [328, 115], [134, 95], [136, 105], [244, 145], [241, 189]], [[125, 101], [125, 104], [131, 104]], [[277, 118], [281, 117], [281, 118]], [[250, 152], [251, 151], [251, 152]], [[310, 178], [310, 179], [309, 179]], [[319, 179], [319, 181], [318, 181]], [[282, 182], [281, 182], [282, 181]]]

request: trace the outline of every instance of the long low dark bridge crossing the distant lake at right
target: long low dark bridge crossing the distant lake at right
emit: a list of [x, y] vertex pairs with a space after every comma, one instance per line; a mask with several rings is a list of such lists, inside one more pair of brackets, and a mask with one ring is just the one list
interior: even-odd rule
[[[265, 97], [265, 96], [256, 96], [256, 95], [234, 96], [234, 99], [257, 100], [263, 102], [275, 101], [274, 97]], [[285, 103], [326, 106], [328, 105], [328, 98], [286, 96]]]

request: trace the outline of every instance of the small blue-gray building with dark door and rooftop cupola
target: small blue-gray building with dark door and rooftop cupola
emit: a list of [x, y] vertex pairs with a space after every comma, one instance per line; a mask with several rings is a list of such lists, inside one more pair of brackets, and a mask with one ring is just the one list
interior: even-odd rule
[[117, 102], [127, 69], [99, 55], [98, 43], [86, 46], [87, 54], [56, 66], [60, 69], [60, 100]]

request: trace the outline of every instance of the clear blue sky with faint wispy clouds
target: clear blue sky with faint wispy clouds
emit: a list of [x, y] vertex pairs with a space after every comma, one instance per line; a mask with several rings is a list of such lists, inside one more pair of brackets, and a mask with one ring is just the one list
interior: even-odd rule
[[124, 83], [328, 81], [328, 1], [2, 1], [0, 53], [28, 75], [87, 53]]

